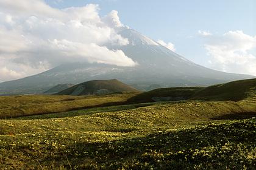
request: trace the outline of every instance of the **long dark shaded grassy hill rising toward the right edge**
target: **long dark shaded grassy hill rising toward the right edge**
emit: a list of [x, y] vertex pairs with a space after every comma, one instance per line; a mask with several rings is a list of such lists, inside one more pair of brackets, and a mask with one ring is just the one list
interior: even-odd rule
[[153, 101], [240, 101], [256, 97], [256, 79], [232, 81], [226, 84], [216, 84], [209, 87], [171, 87], [143, 92], [130, 98], [131, 103]]

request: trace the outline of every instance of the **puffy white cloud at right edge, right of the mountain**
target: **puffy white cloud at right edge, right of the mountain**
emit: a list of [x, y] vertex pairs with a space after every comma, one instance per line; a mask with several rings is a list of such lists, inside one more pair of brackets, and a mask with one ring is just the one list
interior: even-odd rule
[[256, 36], [241, 30], [204, 36], [210, 66], [225, 72], [256, 75]]

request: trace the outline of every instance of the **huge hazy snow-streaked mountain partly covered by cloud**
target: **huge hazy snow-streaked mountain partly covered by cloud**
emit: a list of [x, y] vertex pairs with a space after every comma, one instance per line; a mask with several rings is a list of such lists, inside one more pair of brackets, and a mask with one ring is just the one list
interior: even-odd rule
[[42, 93], [57, 84], [78, 84], [90, 80], [116, 78], [140, 90], [157, 87], [209, 86], [233, 80], [254, 78], [250, 75], [224, 73], [194, 64], [141, 33], [128, 28], [119, 34], [129, 39], [127, 46], [105, 44], [120, 49], [137, 62], [135, 67], [97, 63], [69, 63], [20, 80], [0, 83], [0, 94]]

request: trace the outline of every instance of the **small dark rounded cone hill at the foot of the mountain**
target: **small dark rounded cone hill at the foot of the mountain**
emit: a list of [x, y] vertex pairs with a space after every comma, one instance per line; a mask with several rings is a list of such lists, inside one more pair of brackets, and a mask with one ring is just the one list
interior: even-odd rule
[[116, 79], [93, 80], [62, 90], [57, 95], [99, 95], [115, 92], [138, 92], [138, 90]]

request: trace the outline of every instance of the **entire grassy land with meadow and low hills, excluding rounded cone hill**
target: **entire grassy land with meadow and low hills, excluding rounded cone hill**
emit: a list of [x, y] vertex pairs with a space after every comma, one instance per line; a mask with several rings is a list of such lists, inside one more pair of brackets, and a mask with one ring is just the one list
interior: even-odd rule
[[[10, 111], [12, 118], [0, 120], [0, 169], [255, 169], [254, 82], [243, 81], [235, 94], [218, 93], [225, 84], [210, 87], [216, 90], [212, 94], [208, 87], [185, 89], [182, 101], [141, 103], [155, 92], [43, 96], [44, 102], [41, 96], [1, 97], [3, 109], [7, 103], [12, 108], [59, 105], [52, 107], [55, 113], [13, 117]], [[173, 89], [166, 93], [179, 97]], [[82, 109], [69, 110], [72, 102]], [[62, 106], [69, 109], [57, 111]]]

